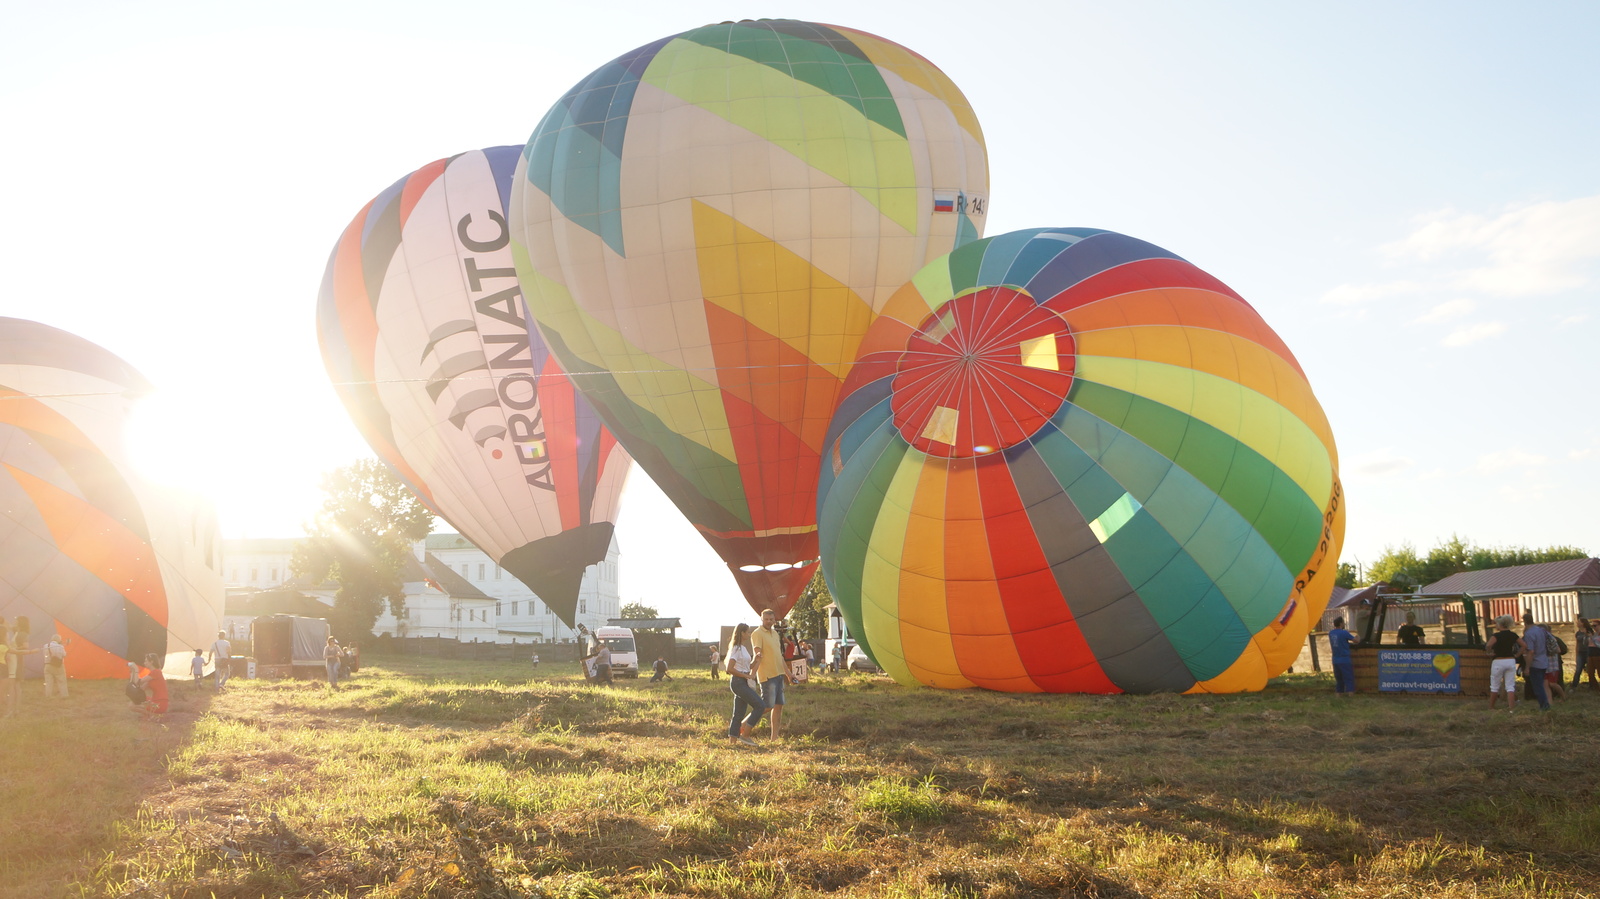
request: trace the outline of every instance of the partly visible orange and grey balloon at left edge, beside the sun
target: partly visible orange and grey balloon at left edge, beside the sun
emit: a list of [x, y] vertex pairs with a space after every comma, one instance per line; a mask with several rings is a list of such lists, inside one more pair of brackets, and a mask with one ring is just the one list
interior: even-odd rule
[[123, 430], [149, 390], [83, 338], [0, 318], [0, 614], [29, 617], [35, 646], [72, 640], [74, 678], [203, 646], [222, 617], [214, 515], [128, 467]]

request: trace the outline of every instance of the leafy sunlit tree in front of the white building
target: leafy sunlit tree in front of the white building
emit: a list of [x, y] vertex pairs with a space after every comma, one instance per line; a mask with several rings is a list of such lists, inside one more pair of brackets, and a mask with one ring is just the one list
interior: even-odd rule
[[294, 545], [290, 569], [338, 582], [328, 616], [333, 635], [366, 638], [384, 600], [397, 619], [405, 616], [406, 557], [434, 528], [434, 512], [378, 459], [325, 475], [322, 489], [322, 512]]

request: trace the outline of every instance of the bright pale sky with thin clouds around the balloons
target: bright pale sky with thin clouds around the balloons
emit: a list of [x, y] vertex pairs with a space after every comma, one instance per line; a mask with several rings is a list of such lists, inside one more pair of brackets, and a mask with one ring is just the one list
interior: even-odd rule
[[[155, 382], [146, 467], [226, 536], [301, 536], [320, 473], [370, 454], [314, 323], [362, 205], [525, 141], [634, 46], [757, 16], [944, 69], [987, 138], [987, 234], [1122, 230], [1259, 309], [1333, 422], [1346, 561], [1453, 533], [1600, 552], [1589, 2], [30, 3], [0, 30], [0, 314]], [[752, 617], [642, 473], [619, 539], [624, 601]]]

